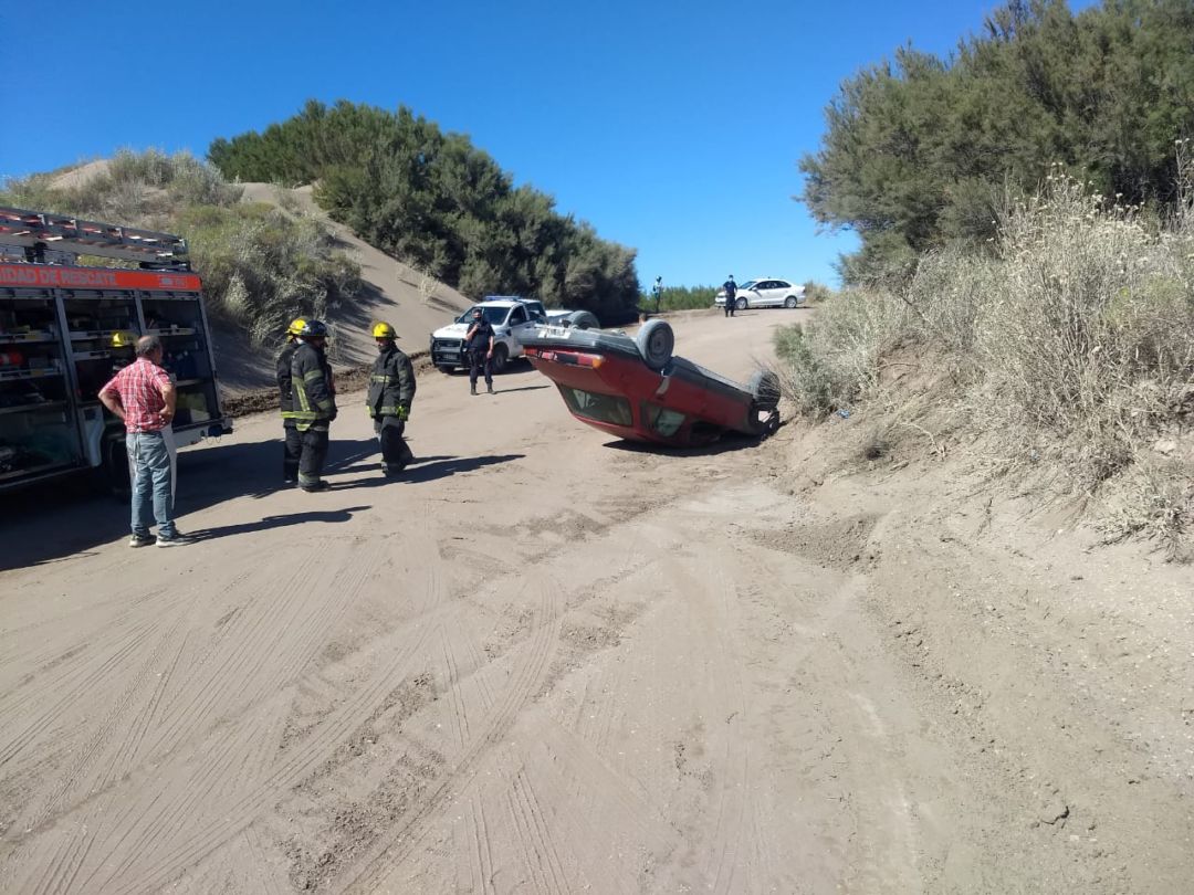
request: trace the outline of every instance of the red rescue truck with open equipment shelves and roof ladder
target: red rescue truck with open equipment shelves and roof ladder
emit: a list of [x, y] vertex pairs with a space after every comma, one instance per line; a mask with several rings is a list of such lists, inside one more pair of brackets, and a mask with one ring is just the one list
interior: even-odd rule
[[0, 492], [86, 470], [127, 481], [124, 427], [98, 394], [147, 334], [174, 379], [178, 446], [232, 432], [184, 239], [0, 206]]

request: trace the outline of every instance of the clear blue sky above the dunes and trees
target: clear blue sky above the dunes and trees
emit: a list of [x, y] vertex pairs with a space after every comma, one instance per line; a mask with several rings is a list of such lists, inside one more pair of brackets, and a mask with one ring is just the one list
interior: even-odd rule
[[706, 285], [727, 273], [833, 283], [853, 237], [818, 234], [792, 199], [825, 106], [904, 43], [948, 55], [995, 6], [4, 4], [0, 31], [21, 41], [10, 54], [20, 76], [7, 91], [0, 177], [122, 147], [202, 156], [213, 138], [260, 130], [308, 98], [401, 104], [636, 248], [644, 288], [656, 276]]

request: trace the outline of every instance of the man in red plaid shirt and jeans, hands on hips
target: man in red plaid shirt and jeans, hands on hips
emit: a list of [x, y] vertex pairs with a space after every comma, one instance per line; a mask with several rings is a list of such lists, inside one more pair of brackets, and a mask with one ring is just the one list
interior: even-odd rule
[[155, 543], [149, 533], [149, 508], [158, 523], [158, 547], [190, 544], [174, 526], [173, 459], [174, 383], [161, 368], [161, 340], [137, 339], [137, 359], [99, 390], [99, 400], [124, 420], [124, 445], [133, 480], [133, 536], [129, 547]]

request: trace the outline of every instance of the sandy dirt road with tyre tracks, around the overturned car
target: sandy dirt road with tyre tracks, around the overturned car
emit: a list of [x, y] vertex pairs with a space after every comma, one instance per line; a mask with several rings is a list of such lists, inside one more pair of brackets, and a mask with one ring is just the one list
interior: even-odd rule
[[[678, 350], [744, 379], [801, 313], [694, 316]], [[534, 371], [498, 387], [420, 378], [404, 482], [344, 399], [318, 495], [275, 489], [279, 427], [242, 420], [183, 457], [180, 524], [203, 537], [186, 549], [128, 549], [100, 500], [6, 523], [0, 890], [1188, 882], [1181, 742], [1137, 774], [1168, 822], [1076, 795], [1071, 755], [1026, 758], [1050, 734], [1023, 730], [1073, 697], [983, 728], [999, 695], [942, 665], [1023, 642], [1010, 622], [958, 621], [935, 665], [923, 601], [876, 603], [923, 584], [916, 550], [875, 553], [896, 516], [874, 501], [898, 496], [801, 493], [794, 427], [663, 456], [574, 422]], [[1030, 686], [1032, 662], [1007, 660]], [[1158, 699], [1181, 683], [1158, 678]], [[1097, 831], [1094, 804], [1114, 809]]]

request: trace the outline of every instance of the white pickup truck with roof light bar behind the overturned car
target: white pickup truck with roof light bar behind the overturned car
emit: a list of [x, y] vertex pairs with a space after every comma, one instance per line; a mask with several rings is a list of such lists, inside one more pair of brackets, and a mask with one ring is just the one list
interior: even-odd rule
[[493, 372], [506, 369], [512, 359], [523, 356], [519, 335], [530, 335], [535, 327], [544, 323], [555, 326], [576, 326], [583, 329], [596, 328], [597, 317], [586, 310], [548, 310], [543, 302], [536, 298], [521, 298], [512, 295], [491, 295], [466, 310], [453, 323], [431, 333], [431, 363], [443, 372], [451, 372], [457, 366], [468, 366], [468, 354], [464, 351], [464, 334], [473, 323], [473, 311], [480, 308], [481, 314], [493, 327]]

